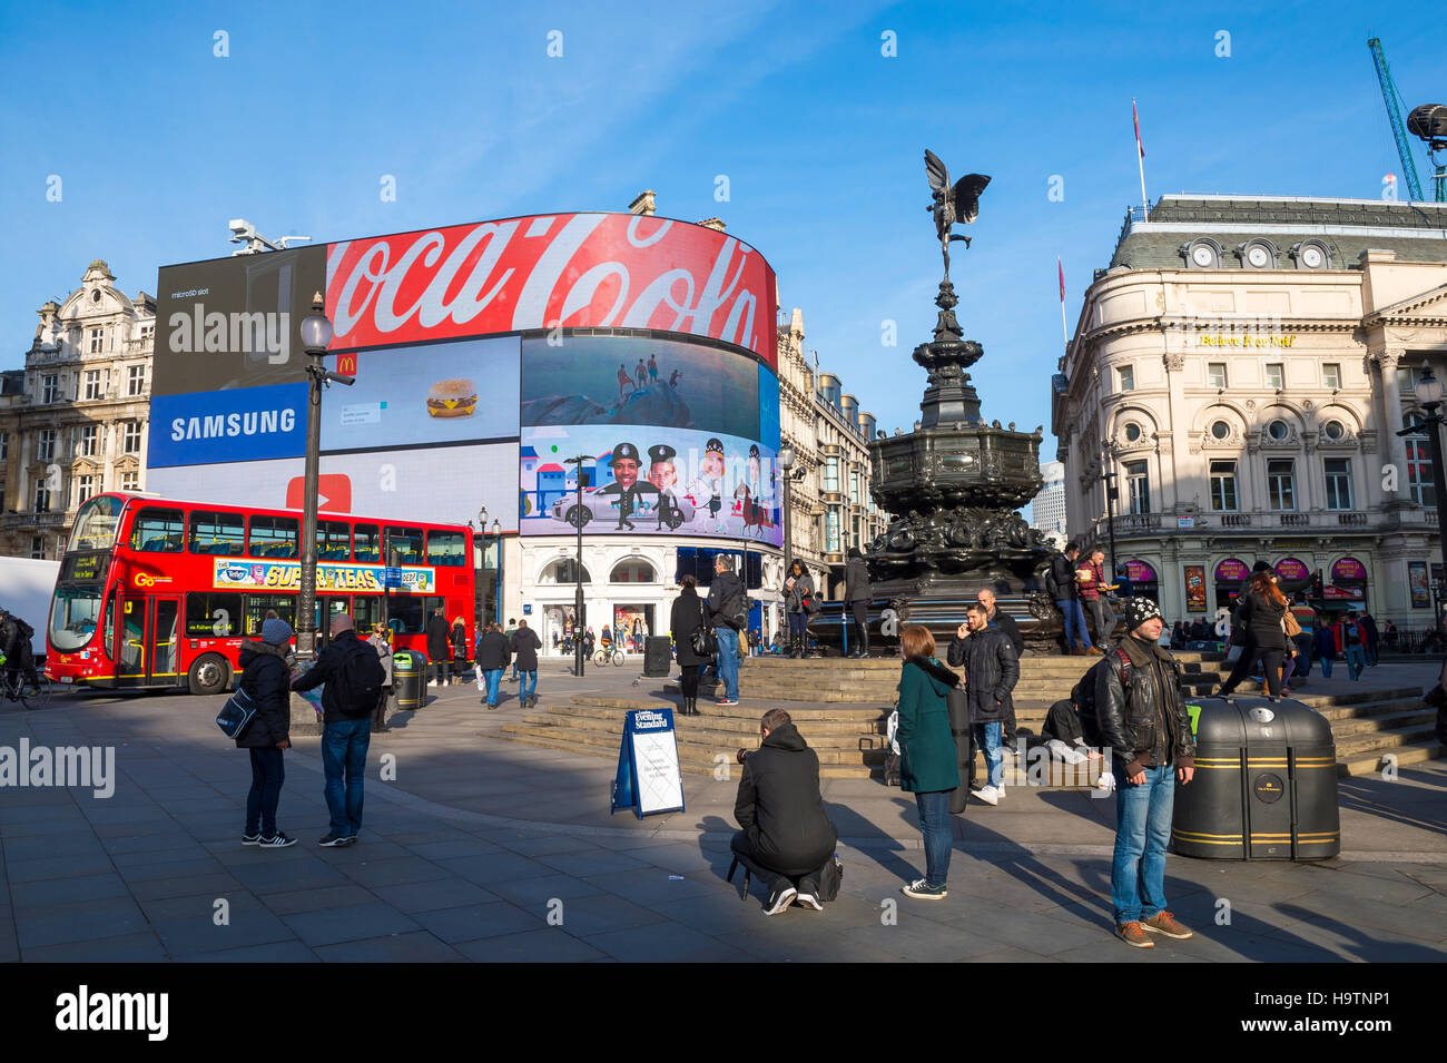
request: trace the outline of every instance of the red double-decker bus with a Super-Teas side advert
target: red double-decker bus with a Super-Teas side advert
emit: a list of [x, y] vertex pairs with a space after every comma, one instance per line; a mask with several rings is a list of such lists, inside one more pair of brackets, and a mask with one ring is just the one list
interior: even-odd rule
[[[232, 684], [242, 641], [266, 610], [294, 629], [301, 512], [106, 493], [87, 500], [61, 560], [45, 673], [103, 688]], [[394, 648], [424, 652], [437, 606], [475, 636], [472, 529], [324, 513], [317, 519], [317, 635], [347, 612], [359, 632], [383, 618]], [[399, 574], [388, 587], [386, 564]]]

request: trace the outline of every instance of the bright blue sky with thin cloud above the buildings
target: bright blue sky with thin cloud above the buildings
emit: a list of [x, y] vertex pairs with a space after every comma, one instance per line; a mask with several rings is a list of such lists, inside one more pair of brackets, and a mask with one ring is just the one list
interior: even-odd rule
[[[627, 210], [653, 188], [660, 214], [719, 215], [758, 247], [823, 367], [881, 427], [909, 427], [925, 385], [909, 351], [929, 336], [941, 273], [929, 146], [952, 175], [993, 176], [974, 247], [952, 253], [956, 314], [985, 347], [972, 373], [984, 415], [1046, 425], [1042, 457], [1055, 451], [1062, 350], [1055, 257], [1074, 328], [1140, 198], [1133, 95], [1152, 200], [1378, 197], [1401, 168], [1369, 29], [1408, 107], [1447, 100], [1421, 6], [6, 0], [0, 12], [0, 367], [23, 363], [35, 311], [91, 259], [124, 291], [153, 294], [158, 266], [229, 255], [232, 217], [320, 242]], [[213, 55], [217, 30], [226, 58]], [[550, 30], [561, 58], [547, 55]], [[46, 200], [51, 175], [59, 202]], [[381, 201], [382, 175], [396, 178], [395, 202]], [[887, 320], [896, 347], [881, 346]]]

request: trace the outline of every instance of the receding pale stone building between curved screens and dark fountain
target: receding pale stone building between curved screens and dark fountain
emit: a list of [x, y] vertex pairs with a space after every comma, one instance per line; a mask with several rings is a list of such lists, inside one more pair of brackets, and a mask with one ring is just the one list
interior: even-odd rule
[[805, 318], [797, 307], [778, 325], [780, 438], [792, 444], [790, 538], [825, 597], [844, 594], [844, 561], [884, 531], [888, 515], [870, 496], [874, 415], [861, 409], [839, 377], [816, 372], [805, 356]]

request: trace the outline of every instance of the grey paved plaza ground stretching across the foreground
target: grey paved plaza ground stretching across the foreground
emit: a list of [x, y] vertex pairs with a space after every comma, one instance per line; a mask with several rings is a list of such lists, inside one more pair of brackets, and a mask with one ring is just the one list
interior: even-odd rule
[[[1383, 664], [1369, 681], [1431, 671]], [[577, 680], [546, 664], [540, 699], [669, 688], [635, 680], [634, 665]], [[748, 706], [747, 668], [744, 684]], [[922, 902], [899, 892], [923, 872], [913, 798], [826, 780], [839, 901], [768, 918], [758, 884], [744, 902], [724, 879], [737, 775], [684, 775], [684, 813], [609, 816], [614, 761], [501, 739], [521, 716], [504, 688], [495, 713], [470, 684], [430, 690], [373, 736], [362, 842], [346, 849], [315, 845], [315, 738], [287, 754], [279, 824], [300, 842], [259, 850], [240, 845], [250, 768], [211, 722], [218, 700], [7, 706], [0, 746], [113, 746], [116, 778], [109, 798], [0, 791], [0, 959], [1447, 960], [1444, 761], [1341, 780], [1338, 859], [1172, 856], [1171, 908], [1197, 936], [1145, 952], [1110, 936], [1113, 798], [1022, 787], [997, 808], [972, 803], [955, 820], [948, 900]]]

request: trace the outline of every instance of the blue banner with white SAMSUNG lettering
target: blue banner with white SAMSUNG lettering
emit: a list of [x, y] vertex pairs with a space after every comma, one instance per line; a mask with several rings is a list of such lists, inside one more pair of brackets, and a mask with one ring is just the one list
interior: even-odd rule
[[150, 399], [152, 469], [307, 453], [307, 385], [232, 388]]

